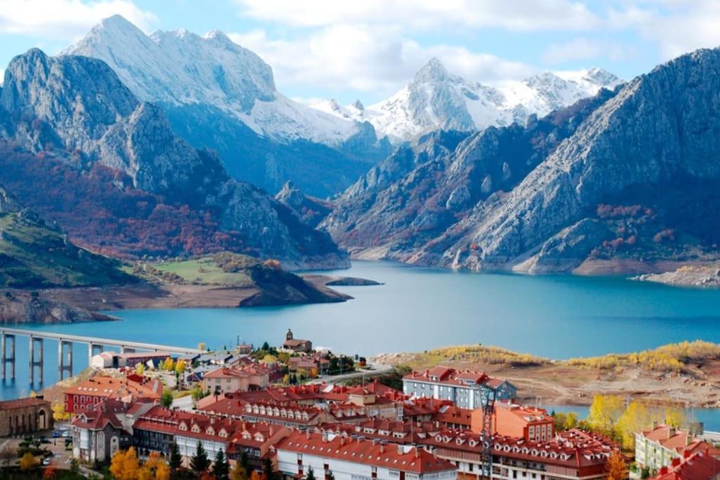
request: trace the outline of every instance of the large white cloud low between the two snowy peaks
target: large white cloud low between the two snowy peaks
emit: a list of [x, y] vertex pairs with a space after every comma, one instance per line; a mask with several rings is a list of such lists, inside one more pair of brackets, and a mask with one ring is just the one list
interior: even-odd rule
[[433, 56], [449, 71], [478, 81], [521, 78], [532, 72], [522, 63], [465, 47], [424, 47], [389, 26], [340, 24], [298, 40], [273, 40], [264, 30], [230, 37], [272, 65], [281, 90], [282, 84], [292, 84], [391, 94]]

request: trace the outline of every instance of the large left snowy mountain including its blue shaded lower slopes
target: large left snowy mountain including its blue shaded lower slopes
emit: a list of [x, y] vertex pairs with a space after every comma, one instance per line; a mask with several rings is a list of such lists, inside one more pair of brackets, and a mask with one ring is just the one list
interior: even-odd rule
[[288, 99], [269, 65], [222, 32], [145, 35], [120, 16], [94, 27], [63, 55], [104, 60], [141, 101], [160, 105], [196, 148], [217, 150], [235, 178], [277, 191], [341, 191], [390, 152], [369, 123]]

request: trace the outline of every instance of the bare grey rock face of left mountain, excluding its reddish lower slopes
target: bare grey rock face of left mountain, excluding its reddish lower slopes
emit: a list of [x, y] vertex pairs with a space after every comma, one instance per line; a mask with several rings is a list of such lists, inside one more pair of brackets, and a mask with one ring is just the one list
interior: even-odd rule
[[291, 268], [347, 265], [327, 234], [230, 178], [217, 155], [175, 135], [162, 110], [138, 101], [101, 60], [30, 50], [8, 66], [0, 107], [9, 115], [5, 135], [16, 145], [84, 171], [102, 165], [127, 175], [132, 184], [118, 175], [118, 188], [202, 210], [221, 231], [240, 232], [244, 250]]

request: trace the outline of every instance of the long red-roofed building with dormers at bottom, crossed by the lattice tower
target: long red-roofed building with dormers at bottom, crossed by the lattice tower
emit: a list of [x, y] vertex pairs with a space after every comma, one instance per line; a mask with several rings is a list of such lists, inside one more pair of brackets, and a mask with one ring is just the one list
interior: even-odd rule
[[[459, 478], [482, 478], [479, 433], [446, 430], [420, 440], [420, 445], [438, 458], [454, 463]], [[545, 442], [496, 435], [492, 445], [492, 478], [607, 479], [606, 462], [616, 449], [611, 440], [581, 430], [569, 430]]]

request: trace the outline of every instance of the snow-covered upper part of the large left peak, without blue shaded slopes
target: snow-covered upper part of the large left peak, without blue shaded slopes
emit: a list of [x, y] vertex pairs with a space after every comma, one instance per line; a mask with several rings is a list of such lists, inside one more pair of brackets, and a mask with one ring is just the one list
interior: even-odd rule
[[310, 140], [338, 146], [362, 130], [353, 119], [320, 112], [280, 94], [272, 68], [222, 32], [200, 36], [177, 30], [148, 36], [116, 15], [62, 55], [104, 60], [142, 100], [216, 107], [279, 142]]

